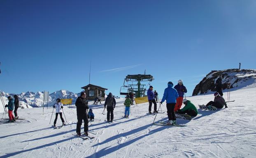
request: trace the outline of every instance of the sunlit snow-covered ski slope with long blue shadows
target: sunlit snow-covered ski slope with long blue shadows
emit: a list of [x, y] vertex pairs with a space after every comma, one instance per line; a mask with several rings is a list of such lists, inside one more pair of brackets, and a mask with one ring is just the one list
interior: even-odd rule
[[[191, 121], [177, 119], [185, 127], [151, 127], [155, 116], [146, 114], [148, 103], [132, 106], [132, 114], [126, 119], [122, 117], [124, 99], [116, 99], [113, 124], [104, 121], [107, 111], [102, 114], [103, 105], [90, 105], [97, 119], [89, 123], [93, 140], [74, 136], [77, 123], [74, 105], [63, 108], [67, 125], [60, 129], [51, 127], [52, 108], [44, 109], [44, 115], [42, 108], [24, 109], [19, 115], [26, 120], [9, 124], [1, 120], [0, 158], [254, 158], [255, 97], [256, 87], [232, 91], [230, 99], [235, 102], [229, 102], [228, 108], [198, 110], [200, 114]], [[214, 96], [187, 98], [198, 105], [206, 104]], [[165, 103], [161, 109], [165, 113], [157, 114], [156, 122], [167, 120]], [[60, 118], [57, 125], [61, 125]]]

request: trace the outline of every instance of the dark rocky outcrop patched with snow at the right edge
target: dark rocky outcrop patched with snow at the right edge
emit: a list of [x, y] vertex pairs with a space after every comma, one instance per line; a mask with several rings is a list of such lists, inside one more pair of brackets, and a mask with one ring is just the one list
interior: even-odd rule
[[227, 69], [212, 71], [195, 86], [192, 96], [216, 92], [215, 82], [222, 77], [222, 89], [238, 89], [256, 83], [256, 70]]

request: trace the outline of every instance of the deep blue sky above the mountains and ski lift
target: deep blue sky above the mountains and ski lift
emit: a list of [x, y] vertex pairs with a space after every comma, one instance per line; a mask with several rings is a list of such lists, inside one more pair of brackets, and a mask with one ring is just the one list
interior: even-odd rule
[[[119, 96], [128, 74], [184, 81], [191, 96], [212, 70], [256, 69], [254, 0], [1, 0], [0, 89]], [[146, 83], [147, 84], [147, 83]]]

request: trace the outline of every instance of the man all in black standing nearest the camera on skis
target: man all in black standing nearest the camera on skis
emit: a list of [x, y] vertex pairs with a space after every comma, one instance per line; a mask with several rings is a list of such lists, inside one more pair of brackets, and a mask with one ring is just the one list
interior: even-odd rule
[[88, 135], [88, 117], [87, 117], [87, 109], [88, 101], [86, 100], [85, 92], [81, 92], [80, 96], [77, 98], [75, 103], [77, 107], [77, 135], [81, 135], [81, 125], [84, 120], [84, 135]]

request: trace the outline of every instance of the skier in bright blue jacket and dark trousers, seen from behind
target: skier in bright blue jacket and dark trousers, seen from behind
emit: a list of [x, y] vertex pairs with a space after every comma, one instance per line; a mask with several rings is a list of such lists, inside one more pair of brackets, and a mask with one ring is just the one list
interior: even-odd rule
[[170, 124], [177, 124], [176, 117], [175, 117], [175, 103], [176, 99], [179, 97], [179, 94], [176, 89], [172, 88], [173, 83], [168, 82], [168, 87], [165, 88], [165, 92], [163, 94], [163, 98], [161, 100], [161, 104], [166, 100], [166, 108], [167, 108], [167, 114], [169, 121], [166, 123], [168, 125]]

